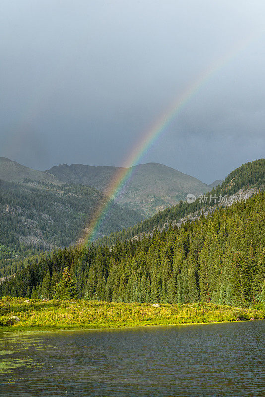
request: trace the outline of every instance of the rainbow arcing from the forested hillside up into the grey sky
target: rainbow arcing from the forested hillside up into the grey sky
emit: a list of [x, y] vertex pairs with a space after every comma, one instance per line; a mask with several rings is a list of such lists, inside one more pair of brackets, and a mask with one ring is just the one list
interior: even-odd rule
[[[201, 75], [199, 75], [193, 84], [191, 84], [180, 96], [178, 96], [173, 104], [171, 104], [171, 106], [164, 111], [164, 113], [151, 126], [151, 128], [143, 133], [142, 139], [133, 148], [131, 154], [124, 162], [123, 168], [119, 169], [110, 182], [107, 190], [104, 192], [107, 197], [102, 200], [93, 214], [92, 219], [89, 222], [89, 226], [87, 229], [85, 229], [87, 231], [85, 243], [89, 243], [94, 239], [101, 222], [104, 220], [104, 217], [111, 206], [112, 200], [117, 198], [125, 183], [128, 182], [128, 180], [132, 177], [133, 166], [139, 162], [139, 160], [145, 155], [157, 138], [160, 137], [163, 132], [165, 132], [167, 126], [178, 115], [180, 110], [187, 104], [187, 102], [198, 93], [201, 87], [203, 87], [205, 83], [208, 82], [210, 78], [221, 68], [227, 65], [229, 61], [235, 58], [236, 55], [252, 40], [253, 36], [247, 40], [244, 40], [243, 42], [240, 42], [239, 45], [211, 64]], [[109, 198], [111, 200], [109, 200]]]

